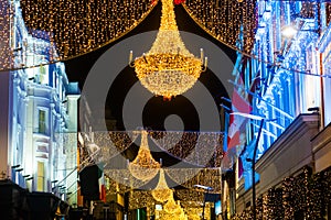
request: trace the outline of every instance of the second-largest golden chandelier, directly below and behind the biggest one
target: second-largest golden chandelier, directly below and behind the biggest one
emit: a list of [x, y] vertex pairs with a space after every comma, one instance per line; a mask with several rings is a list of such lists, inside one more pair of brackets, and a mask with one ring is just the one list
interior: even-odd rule
[[147, 131], [141, 131], [141, 143], [137, 157], [129, 163], [128, 168], [134, 177], [142, 182], [152, 179], [161, 165], [152, 157], [147, 140]]

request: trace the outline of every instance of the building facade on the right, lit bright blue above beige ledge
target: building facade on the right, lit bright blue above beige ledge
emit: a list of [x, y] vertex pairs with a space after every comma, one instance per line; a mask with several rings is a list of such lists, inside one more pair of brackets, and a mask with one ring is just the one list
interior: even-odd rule
[[[235, 86], [252, 106], [250, 114], [259, 119], [249, 119], [245, 127], [246, 140], [236, 163], [237, 170], [243, 172], [237, 172], [236, 197], [232, 198], [236, 206], [227, 218], [252, 218], [253, 184], [258, 198], [257, 219], [275, 219], [266, 216], [270, 215], [266, 200], [270, 200], [271, 194], [277, 197], [275, 191], [278, 189], [280, 219], [308, 218], [308, 208], [291, 215], [284, 211], [287, 210], [285, 198], [280, 197], [287, 189], [284, 179], [293, 178], [295, 183], [307, 167], [311, 170], [307, 178], [313, 179], [324, 175], [331, 165], [327, 160], [331, 150], [328, 138], [331, 122], [331, 4], [323, 1], [256, 1], [256, 6], [253, 57], [238, 56], [237, 78], [242, 78], [243, 84]], [[264, 123], [260, 125], [261, 118]], [[254, 183], [252, 158], [255, 147]], [[328, 202], [323, 204], [320, 215], [330, 219], [328, 206]]]

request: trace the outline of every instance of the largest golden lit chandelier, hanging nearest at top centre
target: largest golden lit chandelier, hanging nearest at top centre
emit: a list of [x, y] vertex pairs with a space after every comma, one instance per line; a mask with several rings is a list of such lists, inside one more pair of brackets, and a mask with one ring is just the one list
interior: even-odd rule
[[181, 40], [173, 10], [173, 0], [162, 1], [161, 25], [149, 52], [129, 64], [135, 67], [141, 85], [156, 96], [171, 99], [193, 87], [200, 74], [206, 70], [207, 58], [191, 54]]

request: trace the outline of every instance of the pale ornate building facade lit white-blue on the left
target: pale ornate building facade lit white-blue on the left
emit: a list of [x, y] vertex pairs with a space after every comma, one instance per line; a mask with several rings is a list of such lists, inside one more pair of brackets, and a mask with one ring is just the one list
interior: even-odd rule
[[77, 132], [78, 84], [68, 81], [63, 63], [51, 64], [57, 56], [52, 34], [26, 29], [20, 1], [1, 4], [11, 11], [3, 29], [10, 41], [2, 46], [20, 68], [0, 74], [0, 177], [67, 200], [77, 189], [77, 178], [68, 177], [77, 165], [77, 138], [65, 145], [64, 133]]

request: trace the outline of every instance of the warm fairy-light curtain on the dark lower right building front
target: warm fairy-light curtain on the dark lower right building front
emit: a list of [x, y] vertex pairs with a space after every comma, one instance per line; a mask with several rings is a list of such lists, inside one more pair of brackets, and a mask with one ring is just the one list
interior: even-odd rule
[[[324, 219], [331, 205], [331, 169], [312, 174], [306, 166], [296, 177], [286, 177], [279, 187], [269, 188], [257, 198], [256, 219]], [[247, 208], [233, 220], [252, 220]]]

